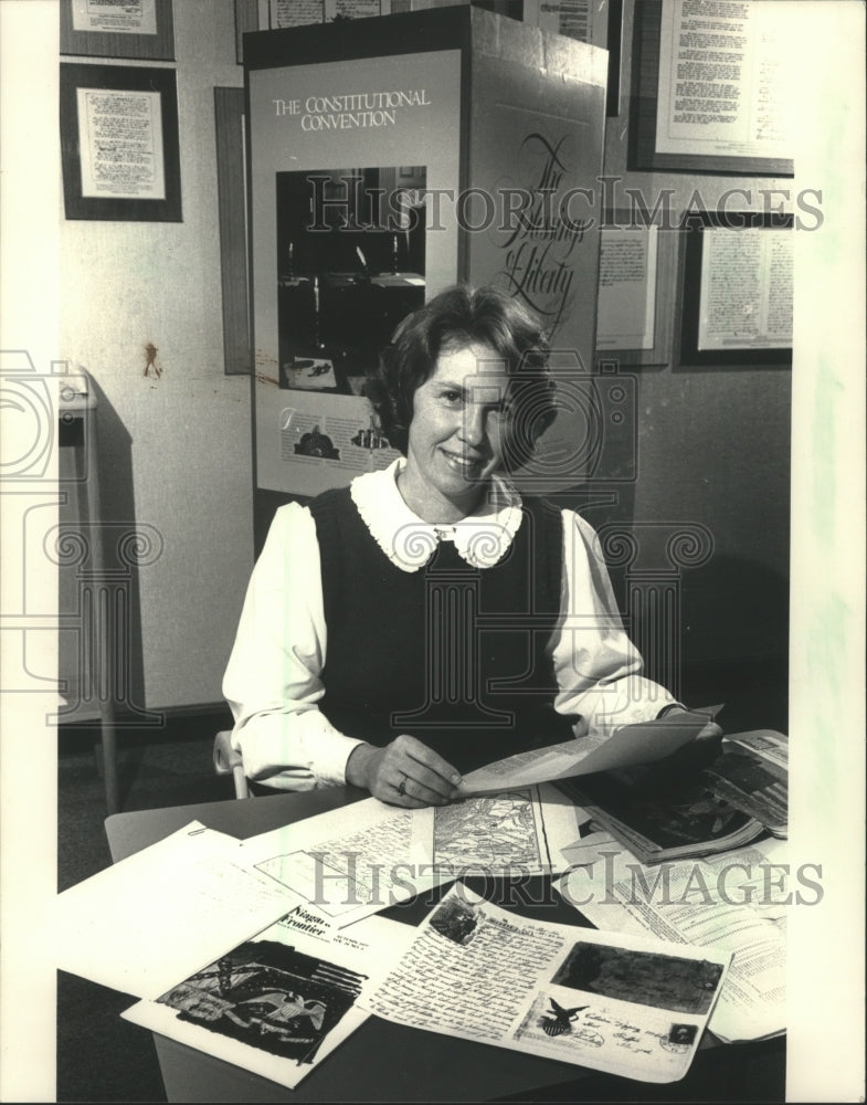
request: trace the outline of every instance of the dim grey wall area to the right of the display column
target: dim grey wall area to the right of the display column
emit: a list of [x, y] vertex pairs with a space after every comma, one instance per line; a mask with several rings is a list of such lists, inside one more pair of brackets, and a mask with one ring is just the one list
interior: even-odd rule
[[[623, 190], [639, 189], [653, 209], [660, 191], [670, 189], [675, 222], [676, 213], [690, 201], [698, 206], [696, 191], [706, 210], [715, 210], [730, 188], [752, 191], [751, 204], [738, 207], [732, 200], [731, 210], [761, 210], [760, 189], [787, 189], [791, 194], [791, 178], [630, 170], [635, 8], [636, 0], [624, 3], [621, 116], [609, 119], [606, 133], [605, 173], [622, 178], [614, 194], [627, 201]], [[775, 204], [791, 209], [780, 199]], [[670, 297], [674, 313], [672, 358], [664, 368], [635, 370], [639, 424], [633, 516], [637, 523], [701, 523], [712, 535], [712, 558], [700, 568], [685, 570], [683, 577], [685, 659], [692, 664], [741, 667], [769, 662], [784, 671], [791, 369], [681, 367], [681, 277], [678, 271], [675, 285], [660, 290]], [[783, 727], [784, 718], [776, 724]]]

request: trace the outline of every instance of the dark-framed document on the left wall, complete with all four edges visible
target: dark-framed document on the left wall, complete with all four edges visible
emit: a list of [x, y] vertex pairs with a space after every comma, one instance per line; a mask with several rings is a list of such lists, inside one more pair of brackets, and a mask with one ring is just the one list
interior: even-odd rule
[[60, 101], [67, 219], [182, 221], [175, 70], [62, 62]]

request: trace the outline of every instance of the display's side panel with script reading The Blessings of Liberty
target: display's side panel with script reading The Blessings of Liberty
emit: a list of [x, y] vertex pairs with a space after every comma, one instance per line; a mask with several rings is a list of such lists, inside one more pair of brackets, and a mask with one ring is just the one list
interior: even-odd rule
[[466, 277], [503, 288], [544, 327], [559, 413], [515, 482], [551, 494], [606, 476], [606, 404], [591, 372], [607, 53], [512, 20], [474, 30]]

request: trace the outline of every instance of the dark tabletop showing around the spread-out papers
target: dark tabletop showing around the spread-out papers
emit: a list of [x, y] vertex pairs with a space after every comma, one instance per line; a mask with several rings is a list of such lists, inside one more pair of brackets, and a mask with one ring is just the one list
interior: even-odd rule
[[[246, 839], [326, 810], [339, 809], [363, 797], [361, 791], [352, 788], [331, 788], [246, 801], [205, 802], [115, 813], [106, 819], [105, 827], [112, 859], [117, 862], [193, 820], [210, 829]], [[472, 880], [467, 882], [473, 885]], [[520, 903], [519, 908], [526, 915], [549, 920], [579, 925], [583, 920], [556, 894], [540, 905]], [[389, 916], [413, 924], [421, 916], [416, 913], [412, 907], [388, 911]], [[612, 1083], [625, 1081], [598, 1075], [570, 1063], [423, 1032], [376, 1017], [362, 1024], [294, 1091], [165, 1036], [155, 1034], [155, 1044], [170, 1102], [476, 1102], [522, 1093], [535, 1095], [546, 1090], [558, 1093], [556, 1099], [569, 1099], [563, 1096], [568, 1084], [590, 1075], [594, 1080], [605, 1078]], [[780, 1066], [776, 1073], [782, 1080], [784, 1041], [772, 1041], [772, 1044], [768, 1062]], [[749, 1059], [755, 1054], [754, 1048], [747, 1044], [726, 1051]], [[702, 1042], [702, 1050], [705, 1054], [722, 1051], [708, 1035]], [[763, 1055], [760, 1056], [762, 1062]], [[692, 1064], [694, 1071], [701, 1060], [699, 1054]], [[737, 1062], [734, 1055], [732, 1062]], [[633, 1090], [641, 1088], [641, 1084], [634, 1082], [627, 1085]], [[683, 1086], [684, 1083], [677, 1085]], [[664, 1092], [667, 1087], [659, 1088]], [[527, 1099], [543, 1101], [546, 1097], [542, 1094]], [[624, 1096], [624, 1099], [627, 1098]], [[662, 1096], [658, 1099], [676, 1098]], [[715, 1096], [713, 1099], [727, 1098]]]

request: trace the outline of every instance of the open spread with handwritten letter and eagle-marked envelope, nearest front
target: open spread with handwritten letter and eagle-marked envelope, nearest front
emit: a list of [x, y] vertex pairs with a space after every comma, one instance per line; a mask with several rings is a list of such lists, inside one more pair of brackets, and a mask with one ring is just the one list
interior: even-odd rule
[[730, 954], [528, 920], [456, 883], [364, 1008], [644, 1082], [683, 1077]]

